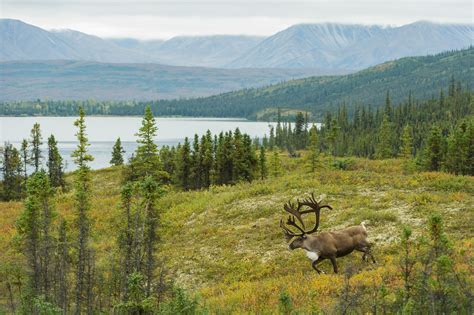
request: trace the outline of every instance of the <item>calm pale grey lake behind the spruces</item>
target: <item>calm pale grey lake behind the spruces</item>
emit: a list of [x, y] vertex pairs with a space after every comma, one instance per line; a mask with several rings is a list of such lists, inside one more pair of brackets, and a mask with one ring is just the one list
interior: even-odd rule
[[[47, 138], [54, 134], [58, 140], [59, 150], [66, 164], [66, 170], [73, 170], [74, 164], [71, 153], [77, 142], [75, 141], [76, 128], [73, 125], [77, 117], [0, 117], [0, 145], [8, 141], [20, 148], [22, 139], [29, 138], [34, 123], [41, 125], [46, 156]], [[268, 134], [269, 126], [274, 123], [254, 122], [238, 119], [215, 118], [157, 118], [158, 146], [176, 145], [185, 137], [192, 139], [195, 133], [201, 135], [208, 129], [212, 134], [221, 131], [235, 130], [239, 127], [243, 133], [253, 137], [263, 137]], [[89, 151], [94, 156], [90, 164], [98, 169], [109, 166], [112, 146], [120, 137], [126, 151], [130, 155], [137, 146], [135, 133], [141, 125], [141, 117], [86, 117], [87, 135], [90, 142]]]

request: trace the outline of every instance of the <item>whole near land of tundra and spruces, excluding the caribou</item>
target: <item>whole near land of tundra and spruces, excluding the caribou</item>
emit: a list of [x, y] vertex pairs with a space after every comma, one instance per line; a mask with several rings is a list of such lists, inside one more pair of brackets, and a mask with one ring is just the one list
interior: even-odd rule
[[[341, 107], [320, 130], [298, 113], [260, 140], [235, 130], [161, 149], [147, 107], [132, 159], [115, 163], [117, 144], [117, 165], [98, 171], [88, 167], [81, 109], [69, 174], [54, 138], [42, 169], [34, 126], [20, 150], [2, 152], [0, 307], [472, 313], [473, 106], [460, 86], [398, 106], [387, 93], [375, 113]], [[333, 208], [321, 210], [321, 231], [366, 222], [376, 264], [353, 254], [338, 259], [339, 274], [327, 261], [318, 274], [304, 252], [287, 250], [283, 205], [311, 193]]]

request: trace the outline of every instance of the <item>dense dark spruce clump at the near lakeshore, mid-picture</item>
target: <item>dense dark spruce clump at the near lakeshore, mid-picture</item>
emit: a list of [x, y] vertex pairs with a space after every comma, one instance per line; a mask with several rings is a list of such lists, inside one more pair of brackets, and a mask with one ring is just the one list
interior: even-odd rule
[[177, 147], [162, 147], [160, 157], [170, 181], [185, 190], [267, 176], [265, 149], [238, 128], [218, 136], [208, 131], [200, 139], [195, 135], [192, 144], [185, 138]]

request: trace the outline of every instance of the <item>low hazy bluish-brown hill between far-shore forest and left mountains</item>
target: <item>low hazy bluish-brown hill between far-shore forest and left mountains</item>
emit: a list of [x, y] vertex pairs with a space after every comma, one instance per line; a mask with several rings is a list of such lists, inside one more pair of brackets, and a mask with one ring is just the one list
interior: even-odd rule
[[0, 100], [153, 100], [208, 96], [324, 74], [314, 69], [215, 69], [88, 61], [0, 63]]

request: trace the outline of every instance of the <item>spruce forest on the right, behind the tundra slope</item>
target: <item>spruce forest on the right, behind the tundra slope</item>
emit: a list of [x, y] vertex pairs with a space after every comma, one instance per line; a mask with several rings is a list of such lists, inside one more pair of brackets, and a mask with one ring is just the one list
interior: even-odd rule
[[[325, 115], [321, 128], [308, 131], [303, 114], [295, 127], [279, 123], [270, 130], [264, 144], [277, 145], [294, 155], [295, 149], [309, 148], [311, 137], [317, 144], [312, 151], [334, 156], [387, 159], [403, 157], [420, 170], [444, 170], [474, 175], [474, 98], [471, 90], [452, 79], [447, 92], [438, 98], [415, 101], [411, 94], [397, 106], [387, 92], [385, 106], [357, 106], [349, 112], [341, 106]], [[275, 134], [275, 135], [274, 135]]]

